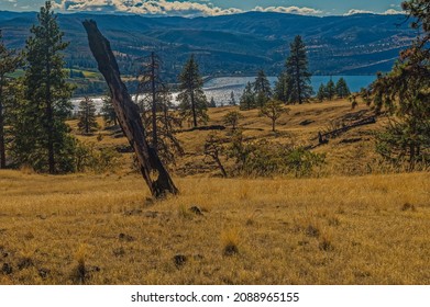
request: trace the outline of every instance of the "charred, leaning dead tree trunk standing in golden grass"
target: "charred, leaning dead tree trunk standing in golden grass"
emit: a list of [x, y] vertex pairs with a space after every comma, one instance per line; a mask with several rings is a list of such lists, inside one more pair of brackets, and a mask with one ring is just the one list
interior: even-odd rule
[[95, 21], [87, 20], [82, 24], [88, 34], [91, 53], [112, 93], [112, 103], [119, 123], [134, 149], [139, 168], [152, 195], [162, 197], [166, 193], [177, 194], [178, 190], [159, 160], [156, 150], [150, 147], [146, 141], [146, 133], [137, 106], [133, 103], [125, 84], [121, 80], [120, 69], [109, 41], [100, 33]]

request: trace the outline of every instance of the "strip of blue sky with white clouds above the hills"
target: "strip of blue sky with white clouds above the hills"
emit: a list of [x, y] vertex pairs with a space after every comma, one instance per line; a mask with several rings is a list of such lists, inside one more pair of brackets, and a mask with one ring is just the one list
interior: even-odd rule
[[[56, 12], [124, 12], [147, 15], [209, 16], [246, 11], [304, 15], [400, 13], [403, 0], [56, 0]], [[38, 11], [45, 0], [0, 0], [0, 10]]]

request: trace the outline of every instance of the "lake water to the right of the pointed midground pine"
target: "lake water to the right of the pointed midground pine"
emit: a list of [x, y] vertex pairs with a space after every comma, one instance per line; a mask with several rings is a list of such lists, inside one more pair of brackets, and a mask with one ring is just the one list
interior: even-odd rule
[[[345, 79], [350, 90], [352, 92], [357, 92], [362, 88], [366, 88], [371, 84], [376, 76], [313, 76], [311, 78], [311, 86], [313, 91], [317, 92], [321, 83], [327, 83], [330, 78], [333, 82], [338, 82], [340, 78]], [[267, 78], [272, 86], [275, 84], [277, 80], [276, 77]], [[203, 90], [208, 100], [213, 98], [217, 104], [228, 104], [230, 101], [231, 92], [234, 93], [234, 98], [239, 103], [239, 100], [242, 95], [243, 89], [245, 88], [247, 82], [253, 82], [255, 77], [220, 77], [210, 79], [205, 83]]]

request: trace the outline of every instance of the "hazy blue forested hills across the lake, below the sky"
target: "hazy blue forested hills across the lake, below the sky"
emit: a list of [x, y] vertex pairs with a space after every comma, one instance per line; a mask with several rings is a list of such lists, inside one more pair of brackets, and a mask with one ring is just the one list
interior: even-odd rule
[[[263, 68], [277, 75], [294, 36], [302, 35], [316, 75], [371, 75], [389, 70], [399, 50], [416, 33], [403, 15], [355, 14], [302, 16], [249, 12], [235, 15], [185, 19], [112, 14], [58, 14], [70, 42], [67, 61], [75, 68], [95, 68], [81, 25], [97, 21], [118, 52], [121, 69], [131, 73], [136, 59], [156, 50], [164, 59], [167, 79], [174, 80], [189, 54], [196, 54], [203, 75], [253, 75]], [[0, 12], [7, 44], [21, 48], [36, 13]]]

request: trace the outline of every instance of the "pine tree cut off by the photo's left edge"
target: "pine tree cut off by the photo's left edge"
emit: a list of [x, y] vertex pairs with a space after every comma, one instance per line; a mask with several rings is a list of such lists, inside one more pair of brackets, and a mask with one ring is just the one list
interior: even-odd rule
[[5, 168], [5, 125], [10, 116], [8, 102], [12, 92], [11, 79], [7, 75], [15, 71], [20, 65], [21, 56], [5, 47], [0, 30], [0, 169]]

